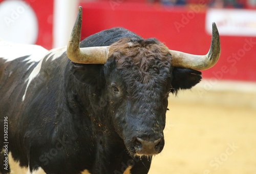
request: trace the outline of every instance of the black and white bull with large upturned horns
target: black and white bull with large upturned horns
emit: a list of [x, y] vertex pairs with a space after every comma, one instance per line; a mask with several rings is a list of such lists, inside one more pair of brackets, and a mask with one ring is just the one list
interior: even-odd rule
[[123, 28], [80, 42], [81, 16], [79, 7], [67, 47], [2, 41], [2, 173], [147, 173], [164, 147], [169, 93], [196, 85], [220, 57], [215, 23], [200, 56]]

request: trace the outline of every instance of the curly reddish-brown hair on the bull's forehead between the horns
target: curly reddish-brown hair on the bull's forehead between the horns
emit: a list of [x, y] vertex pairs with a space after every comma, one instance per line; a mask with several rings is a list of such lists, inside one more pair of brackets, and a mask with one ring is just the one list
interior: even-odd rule
[[139, 70], [141, 82], [148, 82], [152, 72], [159, 73], [162, 67], [170, 69], [172, 63], [169, 49], [155, 38], [122, 38], [111, 45], [109, 55], [115, 57], [117, 69]]

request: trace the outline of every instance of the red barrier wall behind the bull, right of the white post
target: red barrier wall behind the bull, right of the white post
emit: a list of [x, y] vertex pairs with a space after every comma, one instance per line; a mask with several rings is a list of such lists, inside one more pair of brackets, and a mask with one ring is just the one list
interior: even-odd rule
[[[211, 35], [205, 31], [207, 8], [203, 6], [197, 10], [196, 6], [174, 8], [114, 0], [80, 5], [82, 38], [104, 29], [123, 27], [144, 38], [156, 37], [172, 50], [191, 54], [208, 52]], [[203, 77], [256, 81], [256, 37], [221, 36], [221, 46], [219, 62], [203, 71]]]

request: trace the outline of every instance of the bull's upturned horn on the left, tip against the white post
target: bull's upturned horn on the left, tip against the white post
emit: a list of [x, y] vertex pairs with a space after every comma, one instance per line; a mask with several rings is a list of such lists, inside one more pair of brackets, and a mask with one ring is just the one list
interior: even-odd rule
[[75, 25], [73, 27], [67, 55], [75, 63], [104, 64], [108, 59], [109, 47], [87, 47], [80, 48], [82, 28], [82, 7], [79, 7]]

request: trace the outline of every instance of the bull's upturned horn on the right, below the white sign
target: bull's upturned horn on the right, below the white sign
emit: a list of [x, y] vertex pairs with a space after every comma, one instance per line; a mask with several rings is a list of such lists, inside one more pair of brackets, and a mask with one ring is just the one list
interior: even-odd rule
[[220, 58], [220, 35], [215, 23], [212, 23], [211, 46], [206, 55], [187, 54], [169, 50], [173, 57], [173, 67], [190, 68], [194, 70], [206, 70], [213, 67]]

